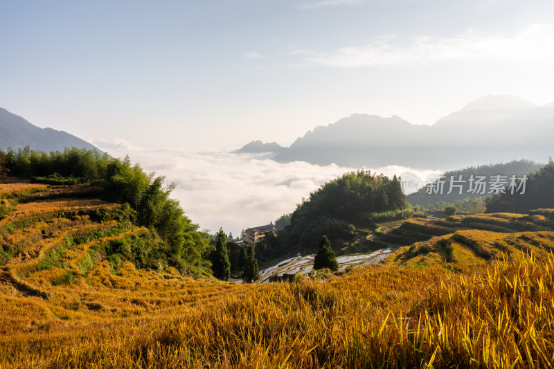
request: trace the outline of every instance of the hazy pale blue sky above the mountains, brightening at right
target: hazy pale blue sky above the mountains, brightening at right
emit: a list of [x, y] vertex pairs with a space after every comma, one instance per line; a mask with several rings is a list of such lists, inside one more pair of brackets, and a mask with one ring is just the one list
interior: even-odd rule
[[150, 148], [554, 102], [552, 0], [0, 1], [0, 107]]

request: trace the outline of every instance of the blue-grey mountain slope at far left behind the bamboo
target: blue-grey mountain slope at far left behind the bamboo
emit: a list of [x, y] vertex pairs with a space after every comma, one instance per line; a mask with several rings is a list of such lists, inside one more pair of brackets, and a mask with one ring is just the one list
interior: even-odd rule
[[0, 108], [0, 150], [7, 150], [8, 147], [17, 150], [26, 145], [33, 150], [45, 152], [63, 151], [64, 147], [78, 147], [100, 152], [98, 147], [72, 134], [52, 128], [39, 128], [24, 118]]

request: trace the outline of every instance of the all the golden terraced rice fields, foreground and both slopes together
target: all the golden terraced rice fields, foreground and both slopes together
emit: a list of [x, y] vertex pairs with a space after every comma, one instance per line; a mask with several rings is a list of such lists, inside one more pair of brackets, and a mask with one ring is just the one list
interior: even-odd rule
[[388, 251], [341, 256], [337, 274], [239, 285], [108, 257], [152, 235], [94, 188], [1, 182], [0, 368], [554, 364], [554, 233], [512, 229], [548, 228], [552, 210], [413, 219], [449, 233], [366, 267]]

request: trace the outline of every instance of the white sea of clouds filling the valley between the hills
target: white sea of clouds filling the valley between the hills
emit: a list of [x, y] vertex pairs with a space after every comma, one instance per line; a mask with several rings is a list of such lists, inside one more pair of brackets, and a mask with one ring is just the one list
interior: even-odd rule
[[[172, 197], [178, 199], [193, 222], [215, 233], [240, 235], [242, 229], [275, 222], [292, 213], [302, 197], [309, 197], [323, 183], [360, 168], [338, 165], [312, 165], [303, 161], [278, 163], [271, 154], [235, 154], [224, 150], [151, 150], [135, 147], [123, 140], [94, 140], [111, 156], [129, 155], [145, 172], [165, 176], [175, 182]], [[425, 179], [432, 170], [411, 170], [390, 165], [364, 168], [388, 177], [413, 172]]]

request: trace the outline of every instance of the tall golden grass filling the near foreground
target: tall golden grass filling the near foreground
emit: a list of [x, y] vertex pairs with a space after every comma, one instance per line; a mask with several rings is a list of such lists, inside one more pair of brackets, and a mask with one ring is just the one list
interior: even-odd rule
[[[18, 329], [0, 338], [3, 364], [544, 368], [554, 360], [551, 254], [516, 254], [511, 262], [461, 266], [457, 272], [374, 266], [325, 281], [231, 286], [231, 291], [222, 282], [168, 282], [132, 267], [123, 275], [116, 277], [135, 285], [125, 292], [103, 287], [105, 293], [114, 289], [113, 295], [96, 294], [95, 288], [80, 299], [73, 291], [71, 300], [71, 288], [61, 288], [66, 307], [59, 296], [3, 300], [11, 312], [3, 322], [24, 325], [24, 333]], [[143, 282], [148, 286], [136, 285]], [[192, 290], [215, 298], [159, 307], [163, 297], [152, 289], [153, 296], [144, 296], [156, 283], [161, 292], [182, 284], [174, 297]], [[110, 305], [110, 297], [119, 305]]]

